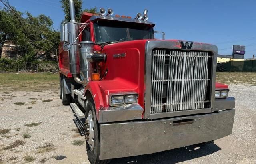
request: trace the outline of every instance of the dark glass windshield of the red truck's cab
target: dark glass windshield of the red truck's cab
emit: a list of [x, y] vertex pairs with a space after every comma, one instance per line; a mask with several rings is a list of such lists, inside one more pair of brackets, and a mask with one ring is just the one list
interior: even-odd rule
[[95, 42], [154, 39], [154, 30], [147, 24], [100, 21], [94, 23]]

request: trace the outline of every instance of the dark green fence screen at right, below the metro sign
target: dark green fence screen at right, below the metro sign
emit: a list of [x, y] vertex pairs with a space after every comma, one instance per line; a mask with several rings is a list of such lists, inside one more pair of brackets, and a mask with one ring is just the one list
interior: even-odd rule
[[217, 72], [256, 72], [256, 60], [217, 63]]

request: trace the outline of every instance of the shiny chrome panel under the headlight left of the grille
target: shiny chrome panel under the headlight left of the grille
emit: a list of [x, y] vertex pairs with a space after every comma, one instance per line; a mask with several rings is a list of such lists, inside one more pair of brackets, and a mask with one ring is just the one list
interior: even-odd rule
[[138, 104], [127, 104], [116, 107], [107, 107], [99, 110], [98, 122], [116, 122], [141, 119], [143, 108]]

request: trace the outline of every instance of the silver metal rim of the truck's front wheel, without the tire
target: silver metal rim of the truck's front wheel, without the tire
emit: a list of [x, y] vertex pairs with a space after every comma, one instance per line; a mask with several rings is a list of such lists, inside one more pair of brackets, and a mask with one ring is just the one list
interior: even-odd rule
[[94, 123], [92, 111], [88, 112], [88, 117], [86, 118], [86, 137], [86, 142], [92, 151], [94, 147]]

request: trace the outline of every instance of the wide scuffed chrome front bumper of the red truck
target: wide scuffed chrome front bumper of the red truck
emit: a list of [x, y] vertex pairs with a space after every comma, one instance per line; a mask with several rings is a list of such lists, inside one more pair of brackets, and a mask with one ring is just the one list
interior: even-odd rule
[[100, 124], [100, 159], [151, 154], [232, 133], [235, 109], [154, 121]]

